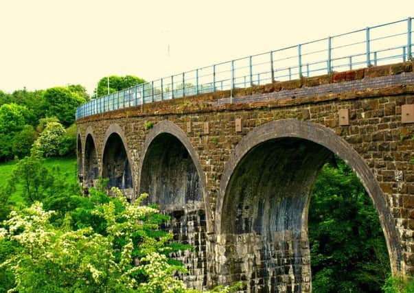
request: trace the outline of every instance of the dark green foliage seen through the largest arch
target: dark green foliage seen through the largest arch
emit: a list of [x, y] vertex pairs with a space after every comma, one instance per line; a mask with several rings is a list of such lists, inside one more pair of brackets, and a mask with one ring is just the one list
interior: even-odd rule
[[352, 169], [325, 165], [312, 192], [309, 239], [315, 292], [378, 292], [390, 272], [371, 199]]

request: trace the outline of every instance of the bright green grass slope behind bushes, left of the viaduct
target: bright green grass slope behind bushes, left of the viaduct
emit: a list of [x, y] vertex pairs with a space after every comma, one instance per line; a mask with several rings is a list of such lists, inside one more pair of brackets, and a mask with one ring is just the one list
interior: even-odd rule
[[[8, 182], [15, 165], [16, 161], [0, 164], [0, 186], [4, 186]], [[64, 176], [67, 183], [73, 184], [78, 180], [76, 178], [76, 158], [47, 158], [45, 159], [45, 167], [49, 170], [60, 169], [60, 176]], [[22, 191], [21, 186], [17, 186], [17, 191], [10, 198], [10, 201], [23, 202]]]

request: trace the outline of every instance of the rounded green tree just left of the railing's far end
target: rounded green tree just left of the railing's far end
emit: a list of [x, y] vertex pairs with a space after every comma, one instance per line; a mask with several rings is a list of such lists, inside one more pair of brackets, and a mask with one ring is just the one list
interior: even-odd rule
[[75, 122], [76, 108], [86, 100], [64, 87], [47, 89], [43, 94], [43, 109], [46, 117], [57, 117], [64, 126]]

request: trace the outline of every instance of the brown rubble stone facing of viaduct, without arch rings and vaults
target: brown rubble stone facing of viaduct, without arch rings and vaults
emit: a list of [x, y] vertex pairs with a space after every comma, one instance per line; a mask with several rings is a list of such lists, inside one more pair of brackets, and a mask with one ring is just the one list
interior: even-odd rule
[[[97, 165], [102, 174], [104, 139], [111, 132], [108, 129], [117, 125], [118, 132], [122, 130], [124, 135], [137, 196], [144, 145], [152, 135], [151, 129], [145, 127], [146, 121], [151, 121], [154, 128], [168, 121], [187, 137], [183, 145], [191, 143], [198, 176], [205, 182], [202, 202], [188, 207], [188, 211], [184, 205], [167, 211], [176, 212], [175, 222], [168, 227], [176, 233], [176, 239], [196, 246], [193, 255], [181, 256], [189, 268], [189, 274], [183, 279], [194, 288], [246, 279], [244, 290], [247, 292], [267, 292], [269, 288], [276, 292], [310, 292], [306, 239], [295, 238], [288, 231], [274, 231], [266, 239], [255, 232], [223, 235], [217, 218], [218, 213], [228, 213], [218, 209], [226, 194], [222, 189], [222, 176], [240, 141], [252, 130], [262, 126], [273, 131], [269, 130], [269, 125], [275, 121], [280, 121], [285, 128], [306, 124], [310, 132], [324, 129], [330, 133], [327, 140], [343, 142], [349, 152], [358, 154], [358, 164], [367, 166], [358, 176], [370, 178], [363, 184], [380, 215], [393, 273], [414, 275], [414, 165], [411, 163], [414, 124], [401, 123], [401, 106], [414, 104], [413, 62], [274, 82], [235, 89], [232, 94], [231, 98], [229, 91], [221, 91], [170, 99], [79, 119], [82, 165], [88, 165], [84, 155], [87, 152], [85, 140], [87, 134], [93, 133]], [[338, 124], [338, 110], [344, 108], [349, 109], [349, 126]], [[235, 131], [236, 118], [241, 119], [241, 132]], [[187, 132], [188, 122], [191, 132]], [[206, 123], [208, 134], [205, 134]], [[162, 129], [159, 131], [161, 133]], [[301, 138], [307, 139], [306, 136]], [[329, 145], [325, 147], [330, 148]], [[358, 171], [358, 167], [349, 165]], [[260, 248], [263, 242], [271, 247], [268, 252], [274, 250], [267, 260]], [[238, 259], [229, 258], [229, 248]], [[273, 277], [266, 271], [269, 257], [277, 263], [278, 271]]]

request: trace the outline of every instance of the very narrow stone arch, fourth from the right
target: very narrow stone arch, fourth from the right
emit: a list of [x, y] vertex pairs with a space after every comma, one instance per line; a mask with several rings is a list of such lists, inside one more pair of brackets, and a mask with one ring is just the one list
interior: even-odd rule
[[83, 183], [87, 187], [95, 186], [99, 177], [99, 162], [97, 160], [96, 139], [91, 126], [85, 132], [83, 144]]

